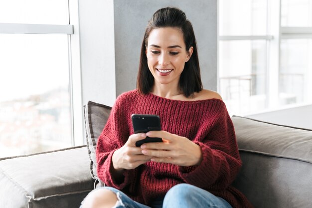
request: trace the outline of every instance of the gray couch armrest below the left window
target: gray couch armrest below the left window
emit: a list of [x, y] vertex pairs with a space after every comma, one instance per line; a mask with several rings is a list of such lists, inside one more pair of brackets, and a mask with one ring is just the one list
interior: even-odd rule
[[0, 161], [0, 208], [74, 208], [93, 190], [87, 148]]

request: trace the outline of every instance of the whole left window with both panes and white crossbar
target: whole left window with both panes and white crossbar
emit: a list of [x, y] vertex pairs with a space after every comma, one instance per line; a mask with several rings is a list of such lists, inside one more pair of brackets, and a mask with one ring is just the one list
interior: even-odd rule
[[69, 1], [0, 2], [0, 158], [74, 145], [72, 34]]

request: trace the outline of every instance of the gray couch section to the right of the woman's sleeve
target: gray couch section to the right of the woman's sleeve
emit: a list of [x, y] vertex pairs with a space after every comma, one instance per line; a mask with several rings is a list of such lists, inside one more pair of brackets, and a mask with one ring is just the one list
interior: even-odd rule
[[234, 186], [256, 208], [312, 204], [312, 130], [233, 116], [243, 167]]

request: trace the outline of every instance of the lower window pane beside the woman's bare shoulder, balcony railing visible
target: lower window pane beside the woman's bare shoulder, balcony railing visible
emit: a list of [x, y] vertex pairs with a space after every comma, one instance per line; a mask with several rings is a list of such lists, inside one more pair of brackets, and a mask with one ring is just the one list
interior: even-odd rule
[[230, 114], [266, 108], [266, 40], [219, 42], [220, 93]]

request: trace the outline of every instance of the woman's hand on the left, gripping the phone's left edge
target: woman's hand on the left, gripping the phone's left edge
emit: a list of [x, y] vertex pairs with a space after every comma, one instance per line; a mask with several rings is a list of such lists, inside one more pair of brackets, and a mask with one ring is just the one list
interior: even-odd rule
[[151, 160], [152, 156], [144, 155], [136, 142], [146, 138], [145, 133], [130, 135], [126, 144], [116, 150], [112, 157], [112, 163], [116, 171], [135, 169]]

